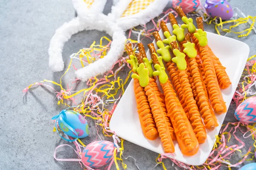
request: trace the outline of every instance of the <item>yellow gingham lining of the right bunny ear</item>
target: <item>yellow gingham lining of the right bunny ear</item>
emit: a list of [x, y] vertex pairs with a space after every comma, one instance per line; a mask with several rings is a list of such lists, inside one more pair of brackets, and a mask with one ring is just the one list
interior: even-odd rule
[[125, 9], [122, 17], [137, 14], [143, 9], [147, 8], [154, 0], [133, 0], [129, 6]]

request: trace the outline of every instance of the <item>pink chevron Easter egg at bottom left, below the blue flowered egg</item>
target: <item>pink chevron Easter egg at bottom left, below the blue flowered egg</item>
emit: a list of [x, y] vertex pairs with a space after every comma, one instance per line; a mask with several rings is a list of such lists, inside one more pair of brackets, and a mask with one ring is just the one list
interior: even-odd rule
[[89, 167], [102, 167], [113, 159], [115, 148], [116, 146], [113, 142], [92, 142], [84, 147], [82, 153], [82, 162]]

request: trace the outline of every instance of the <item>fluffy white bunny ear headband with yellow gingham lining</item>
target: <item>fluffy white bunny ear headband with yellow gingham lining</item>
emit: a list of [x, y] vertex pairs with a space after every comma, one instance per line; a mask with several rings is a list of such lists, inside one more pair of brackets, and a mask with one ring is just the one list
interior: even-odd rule
[[99, 30], [112, 37], [111, 48], [104, 58], [77, 70], [76, 76], [86, 81], [104, 74], [123, 54], [125, 31], [157, 17], [168, 2], [169, 0], [114, 0], [111, 13], [105, 15], [102, 11], [106, 0], [73, 0], [78, 16], [55, 31], [49, 45], [49, 67], [52, 71], [64, 69], [62, 49], [73, 34], [83, 30]]

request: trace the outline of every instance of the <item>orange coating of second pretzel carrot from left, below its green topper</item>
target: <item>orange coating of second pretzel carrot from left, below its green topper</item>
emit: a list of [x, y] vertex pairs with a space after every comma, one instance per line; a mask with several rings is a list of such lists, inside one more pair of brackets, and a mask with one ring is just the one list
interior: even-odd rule
[[169, 127], [151, 81], [149, 81], [148, 85], [145, 87], [145, 92], [148, 96], [148, 102], [153, 113], [154, 121], [157, 125], [157, 131], [163, 145], [163, 150], [165, 153], [174, 153], [175, 148], [172, 142]]

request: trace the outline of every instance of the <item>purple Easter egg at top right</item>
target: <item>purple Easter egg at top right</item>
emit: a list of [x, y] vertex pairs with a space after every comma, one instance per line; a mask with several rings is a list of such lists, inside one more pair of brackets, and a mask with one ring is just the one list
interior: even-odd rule
[[221, 17], [222, 20], [229, 20], [233, 17], [233, 9], [227, 0], [206, 0], [204, 7], [211, 17]]

